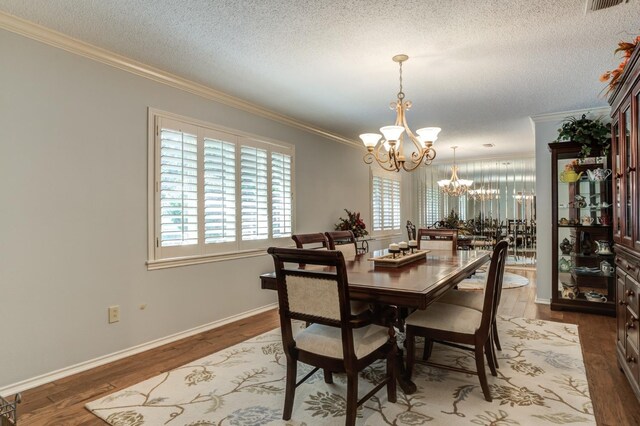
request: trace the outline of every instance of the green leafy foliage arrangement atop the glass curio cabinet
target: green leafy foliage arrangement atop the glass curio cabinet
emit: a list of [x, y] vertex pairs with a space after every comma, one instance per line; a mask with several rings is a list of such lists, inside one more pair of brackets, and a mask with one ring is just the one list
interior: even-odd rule
[[554, 142], [566, 141], [580, 144], [581, 158], [589, 157], [594, 148], [600, 151], [598, 155], [606, 156], [611, 149], [611, 127], [600, 118], [587, 118], [586, 114], [581, 118], [567, 117]]

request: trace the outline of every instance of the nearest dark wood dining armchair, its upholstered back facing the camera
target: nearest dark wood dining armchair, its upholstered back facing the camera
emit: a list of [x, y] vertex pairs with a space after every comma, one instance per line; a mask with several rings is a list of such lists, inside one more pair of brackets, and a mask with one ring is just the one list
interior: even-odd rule
[[[372, 324], [349, 311], [349, 280], [340, 251], [271, 247], [280, 306], [282, 345], [287, 359], [283, 420], [291, 419], [295, 389], [322, 368], [347, 376], [346, 424], [355, 425], [357, 408], [386, 386], [387, 399], [396, 402], [396, 338], [392, 326]], [[299, 264], [322, 270], [299, 269]], [[323, 303], [318, 303], [318, 301]], [[293, 333], [293, 320], [312, 323]], [[386, 377], [358, 400], [358, 373], [378, 359], [386, 359]], [[297, 380], [298, 361], [314, 369]]]

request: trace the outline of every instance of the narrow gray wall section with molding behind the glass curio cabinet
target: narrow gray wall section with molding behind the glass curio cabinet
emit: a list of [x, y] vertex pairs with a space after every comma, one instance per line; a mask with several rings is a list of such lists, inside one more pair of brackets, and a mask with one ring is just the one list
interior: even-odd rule
[[[536, 139], [536, 216], [537, 216], [537, 294], [536, 300], [548, 303], [551, 300], [551, 153], [549, 143], [558, 137], [558, 129], [565, 117], [591, 118], [609, 116], [609, 108], [567, 111], [533, 117]], [[608, 120], [606, 120], [608, 121]]]

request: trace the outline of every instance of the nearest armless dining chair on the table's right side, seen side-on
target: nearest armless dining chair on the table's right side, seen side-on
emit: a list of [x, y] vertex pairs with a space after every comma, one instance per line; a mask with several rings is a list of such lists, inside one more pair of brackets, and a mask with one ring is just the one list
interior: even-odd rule
[[482, 311], [465, 306], [435, 302], [429, 305], [427, 309], [415, 311], [406, 318], [406, 375], [409, 379], [411, 379], [415, 364], [415, 338], [416, 336], [422, 336], [425, 338], [425, 345], [428, 348], [427, 357], [431, 354], [434, 342], [473, 351], [476, 363], [475, 371], [442, 364], [429, 364], [467, 374], [477, 374], [484, 398], [489, 402], [492, 401], [489, 384], [487, 383], [484, 357], [486, 355], [489, 360], [491, 374], [496, 376], [491, 325], [497, 309], [498, 291], [502, 287], [500, 284], [508, 248], [509, 245], [506, 241], [500, 241], [493, 251], [482, 301]]

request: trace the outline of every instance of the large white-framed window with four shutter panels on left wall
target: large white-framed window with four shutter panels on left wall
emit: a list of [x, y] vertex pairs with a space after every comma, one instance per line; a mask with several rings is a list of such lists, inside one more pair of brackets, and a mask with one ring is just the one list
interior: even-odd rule
[[169, 113], [149, 119], [150, 265], [291, 237], [293, 147]]

